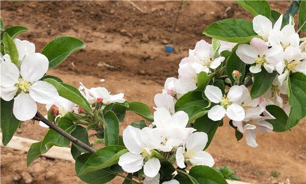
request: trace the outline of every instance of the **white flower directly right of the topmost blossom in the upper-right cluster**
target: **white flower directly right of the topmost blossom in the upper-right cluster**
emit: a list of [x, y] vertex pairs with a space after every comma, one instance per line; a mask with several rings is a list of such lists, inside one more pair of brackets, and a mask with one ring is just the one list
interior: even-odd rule
[[285, 51], [288, 47], [298, 47], [299, 36], [295, 33], [294, 26], [286, 25], [282, 31], [273, 30], [269, 35], [269, 43], [272, 47], [282, 47]]

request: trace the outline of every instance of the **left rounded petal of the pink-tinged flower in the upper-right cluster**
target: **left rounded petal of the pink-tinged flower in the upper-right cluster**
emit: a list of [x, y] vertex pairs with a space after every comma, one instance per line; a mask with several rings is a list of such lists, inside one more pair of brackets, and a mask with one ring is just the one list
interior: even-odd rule
[[258, 58], [257, 50], [248, 44], [240, 44], [236, 50], [237, 56], [246, 64], [253, 64]]

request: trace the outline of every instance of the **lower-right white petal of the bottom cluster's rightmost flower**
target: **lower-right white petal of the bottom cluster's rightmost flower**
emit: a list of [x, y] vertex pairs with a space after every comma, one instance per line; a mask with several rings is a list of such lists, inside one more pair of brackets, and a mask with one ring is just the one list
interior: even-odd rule
[[188, 159], [193, 166], [204, 165], [213, 167], [215, 160], [211, 154], [206, 151], [196, 151], [195, 156]]

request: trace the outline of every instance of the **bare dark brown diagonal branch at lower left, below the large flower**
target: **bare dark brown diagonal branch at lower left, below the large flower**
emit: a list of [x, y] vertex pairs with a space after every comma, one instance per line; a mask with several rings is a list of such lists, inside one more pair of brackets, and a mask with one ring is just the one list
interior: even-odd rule
[[36, 112], [35, 115], [36, 120], [38, 121], [42, 121], [44, 124], [48, 125], [50, 128], [54, 129], [55, 131], [57, 131], [59, 134], [63, 135], [65, 138], [67, 138], [69, 141], [71, 141], [72, 143], [80, 146], [81, 148], [89, 151], [90, 153], [94, 153], [95, 150], [93, 148], [91, 148], [90, 146], [84, 144], [83, 142], [81, 142], [80, 140], [76, 139], [75, 137], [73, 137], [72, 135], [70, 135], [69, 133], [65, 132], [63, 129], [61, 129], [60, 127], [56, 126], [54, 123], [49, 122], [47, 119], [45, 119], [45, 117], [42, 116], [41, 113], [39, 113], [38, 111]]

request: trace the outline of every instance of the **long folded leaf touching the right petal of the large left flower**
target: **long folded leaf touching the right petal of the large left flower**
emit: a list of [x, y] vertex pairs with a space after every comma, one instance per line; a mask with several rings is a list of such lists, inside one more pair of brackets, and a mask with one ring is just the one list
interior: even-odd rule
[[92, 110], [88, 101], [82, 96], [80, 91], [69, 85], [62, 82], [58, 82], [55, 79], [47, 78], [44, 81], [54, 85], [54, 87], [58, 90], [58, 93], [61, 97], [64, 97], [67, 100], [83, 107], [87, 112], [92, 114]]

